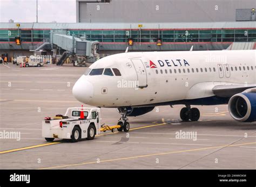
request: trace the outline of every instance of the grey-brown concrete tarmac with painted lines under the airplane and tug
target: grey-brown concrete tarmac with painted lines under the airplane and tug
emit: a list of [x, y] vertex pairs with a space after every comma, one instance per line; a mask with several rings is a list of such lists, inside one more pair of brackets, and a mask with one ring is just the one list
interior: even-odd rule
[[[72, 87], [87, 67], [0, 64], [0, 169], [256, 169], [256, 122], [234, 121], [226, 105], [197, 106], [197, 122], [183, 122], [184, 106], [159, 106], [129, 117], [128, 133], [71, 143], [42, 137], [42, 120], [82, 105]], [[102, 108], [102, 123], [120, 114]], [[184, 135], [185, 134], [185, 135]]]

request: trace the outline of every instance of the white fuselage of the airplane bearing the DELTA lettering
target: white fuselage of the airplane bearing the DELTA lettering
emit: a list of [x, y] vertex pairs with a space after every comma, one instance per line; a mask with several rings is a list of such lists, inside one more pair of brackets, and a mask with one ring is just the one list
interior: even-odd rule
[[217, 85], [255, 84], [256, 50], [130, 52], [102, 58], [90, 69], [117, 68], [121, 76], [82, 75], [80, 102], [97, 107], [161, 105], [214, 96]]

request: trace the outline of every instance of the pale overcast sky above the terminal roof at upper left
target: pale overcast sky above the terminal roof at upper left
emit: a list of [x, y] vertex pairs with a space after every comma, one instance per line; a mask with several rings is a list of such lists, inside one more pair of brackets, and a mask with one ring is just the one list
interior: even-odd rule
[[[0, 22], [36, 22], [36, 0], [0, 0]], [[38, 22], [76, 22], [76, 0], [38, 0]]]

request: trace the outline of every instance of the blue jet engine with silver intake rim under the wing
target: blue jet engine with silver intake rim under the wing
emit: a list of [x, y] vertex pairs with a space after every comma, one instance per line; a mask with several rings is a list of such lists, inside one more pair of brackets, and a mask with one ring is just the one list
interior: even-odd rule
[[232, 96], [228, 102], [228, 110], [233, 119], [240, 122], [256, 121], [256, 92], [254, 91], [245, 91]]

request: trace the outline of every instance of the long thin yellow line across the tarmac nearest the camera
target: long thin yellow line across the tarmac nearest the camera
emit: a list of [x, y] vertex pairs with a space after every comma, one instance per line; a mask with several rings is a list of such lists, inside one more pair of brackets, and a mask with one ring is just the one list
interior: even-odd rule
[[[110, 160], [102, 160], [99, 163], [129, 160], [129, 159], [132, 159], [132, 158], [143, 158], [143, 157], [149, 157], [149, 156], [167, 155], [167, 154], [174, 154], [174, 153], [185, 153], [185, 152], [190, 152], [190, 151], [217, 149], [217, 148], [224, 148], [224, 147], [244, 146], [244, 145], [248, 145], [248, 144], [256, 144], [256, 142], [241, 143], [241, 144], [234, 144], [234, 145], [224, 145], [224, 146], [215, 146], [215, 147], [207, 147], [207, 148], [199, 148], [199, 149], [187, 149], [187, 150], [181, 150], [181, 151], [171, 151], [171, 152], [156, 153], [156, 154], [149, 154], [149, 155], [139, 155], [139, 156], [131, 156], [131, 157], [114, 158], [114, 159], [110, 159]], [[57, 165], [57, 166], [54, 166], [54, 167], [39, 168], [39, 170], [42, 170], [42, 169], [56, 169], [56, 168], [72, 167], [72, 166], [77, 166], [77, 165], [95, 164], [95, 163], [98, 163], [98, 162], [95, 161], [95, 162], [84, 162], [84, 163], [78, 163], [78, 164]]]

